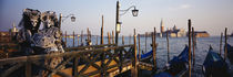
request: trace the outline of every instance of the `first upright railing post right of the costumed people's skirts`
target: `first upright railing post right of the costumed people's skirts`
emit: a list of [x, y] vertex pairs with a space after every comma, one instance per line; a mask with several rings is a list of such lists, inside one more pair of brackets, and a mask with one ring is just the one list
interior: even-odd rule
[[79, 66], [79, 57], [75, 57], [73, 59], [73, 68], [72, 68], [73, 77], [78, 77], [78, 66]]

